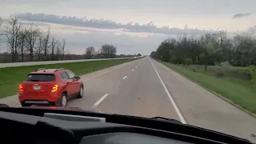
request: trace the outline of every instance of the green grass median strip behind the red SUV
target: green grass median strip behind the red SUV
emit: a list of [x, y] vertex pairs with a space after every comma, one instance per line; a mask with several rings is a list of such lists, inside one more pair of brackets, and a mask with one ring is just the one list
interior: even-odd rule
[[0, 98], [17, 94], [18, 85], [24, 81], [27, 74], [39, 68], [63, 67], [72, 70], [74, 74], [82, 75], [137, 59], [139, 58], [0, 68]]

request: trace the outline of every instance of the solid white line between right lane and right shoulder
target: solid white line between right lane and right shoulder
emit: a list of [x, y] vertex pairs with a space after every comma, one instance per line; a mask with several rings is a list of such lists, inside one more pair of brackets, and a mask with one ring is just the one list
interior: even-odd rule
[[[150, 60], [151, 62], [151, 60]], [[151, 62], [152, 66], [154, 67], [153, 62]], [[158, 74], [158, 70], [156, 70], [156, 68], [154, 67], [155, 72]], [[176, 105], [176, 103], [174, 102], [174, 98], [171, 97], [169, 91], [166, 88], [166, 85], [164, 84], [164, 82], [162, 81], [162, 78], [160, 77], [160, 75], [158, 74], [158, 78], [160, 79], [160, 82], [162, 83], [163, 88], [166, 90], [166, 94], [168, 95], [168, 97], [170, 98], [170, 102], [172, 103], [172, 105], [174, 106], [174, 110], [176, 111], [176, 113], [178, 114], [178, 118], [182, 121], [182, 123], [186, 124], [186, 120], [183, 117], [182, 113], [180, 110], [178, 110], [178, 106]]]

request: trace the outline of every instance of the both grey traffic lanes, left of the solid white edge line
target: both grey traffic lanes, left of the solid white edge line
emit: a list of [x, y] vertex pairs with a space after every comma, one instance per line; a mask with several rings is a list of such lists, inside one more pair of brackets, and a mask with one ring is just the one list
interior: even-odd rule
[[179, 120], [149, 58], [90, 79], [85, 86], [85, 98], [71, 100], [68, 106], [102, 113]]

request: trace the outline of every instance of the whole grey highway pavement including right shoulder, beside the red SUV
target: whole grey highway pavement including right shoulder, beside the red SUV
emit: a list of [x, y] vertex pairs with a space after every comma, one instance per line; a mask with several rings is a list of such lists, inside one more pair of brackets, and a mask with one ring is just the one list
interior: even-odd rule
[[256, 119], [166, 66], [142, 58], [82, 76], [84, 98], [68, 106], [109, 114], [174, 118], [183, 123], [250, 138]]

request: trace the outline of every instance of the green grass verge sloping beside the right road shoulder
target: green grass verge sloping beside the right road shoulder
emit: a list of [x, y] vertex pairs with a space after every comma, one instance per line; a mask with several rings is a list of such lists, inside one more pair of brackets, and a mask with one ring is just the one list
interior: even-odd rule
[[[256, 114], [256, 89], [255, 79], [242, 79], [225, 76], [214, 76], [212, 72], [204, 72], [200, 68], [191, 69], [189, 66], [174, 65], [169, 62], [162, 62], [165, 66], [177, 71], [180, 74], [185, 75], [194, 82], [198, 82], [200, 85], [206, 87], [206, 89], [212, 90], [222, 97], [229, 99], [236, 105], [241, 106], [243, 109]], [[212, 66], [213, 68], [213, 66]], [[252, 68], [240, 68], [232, 67], [234, 70], [247, 70]], [[210, 70], [209, 70], [210, 71]]]

